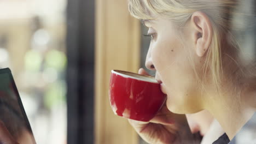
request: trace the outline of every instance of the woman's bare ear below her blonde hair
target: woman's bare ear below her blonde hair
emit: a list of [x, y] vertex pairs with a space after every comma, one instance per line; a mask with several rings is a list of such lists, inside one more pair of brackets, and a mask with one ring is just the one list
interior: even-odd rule
[[212, 23], [208, 16], [201, 11], [196, 11], [191, 16], [192, 37], [196, 48], [196, 55], [202, 57], [209, 49], [212, 42]]

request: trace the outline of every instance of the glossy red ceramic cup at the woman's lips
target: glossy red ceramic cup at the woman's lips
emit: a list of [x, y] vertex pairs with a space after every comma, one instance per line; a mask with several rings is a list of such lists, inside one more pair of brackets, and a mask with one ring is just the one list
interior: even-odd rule
[[161, 109], [166, 95], [154, 77], [112, 70], [109, 99], [115, 115], [148, 122]]

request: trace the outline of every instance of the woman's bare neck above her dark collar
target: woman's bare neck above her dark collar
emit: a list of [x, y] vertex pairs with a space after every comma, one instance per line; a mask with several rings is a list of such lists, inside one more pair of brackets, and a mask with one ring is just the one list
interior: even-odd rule
[[[234, 67], [227, 67], [229, 73], [238, 69], [235, 64], [232, 66]], [[205, 107], [217, 119], [229, 139], [232, 140], [254, 114], [256, 92], [255, 88], [247, 89], [248, 85], [246, 87], [241, 86], [240, 82], [236, 81], [240, 80], [241, 77], [236, 77], [235, 74], [225, 75], [225, 78], [219, 93], [212, 88], [212, 85], [207, 87], [207, 94], [210, 95], [210, 99], [207, 100]]]

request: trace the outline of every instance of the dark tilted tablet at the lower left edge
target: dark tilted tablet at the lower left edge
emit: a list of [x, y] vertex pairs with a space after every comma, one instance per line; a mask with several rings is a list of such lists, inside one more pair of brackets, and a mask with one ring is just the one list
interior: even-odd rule
[[[34, 144], [34, 136], [9, 68], [0, 69], [0, 122], [11, 139], [19, 144]], [[0, 133], [0, 137], [4, 134]], [[0, 143], [4, 143], [0, 140]]]

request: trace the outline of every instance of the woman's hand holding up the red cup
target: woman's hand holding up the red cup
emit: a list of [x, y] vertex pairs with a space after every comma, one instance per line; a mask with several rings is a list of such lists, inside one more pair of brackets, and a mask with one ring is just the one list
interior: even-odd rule
[[[148, 75], [144, 69], [139, 69], [139, 74]], [[125, 85], [125, 83], [121, 84]], [[122, 97], [123, 95], [115, 96]], [[150, 99], [158, 97], [158, 95], [154, 95], [154, 97], [145, 97]], [[113, 98], [111, 98], [110, 93], [110, 103], [114, 104], [113, 101], [111, 102], [112, 99]], [[124, 112], [121, 113], [122, 115], [120, 113], [117, 113], [117, 115], [129, 118], [128, 120], [132, 127], [137, 131], [137, 133], [142, 137], [142, 139], [144, 139], [148, 143], [200, 143], [200, 140], [196, 140], [195, 137], [191, 134], [187, 118], [185, 117], [185, 115], [177, 115], [170, 112], [167, 109], [165, 99], [164, 101], [162, 101], [162, 104], [160, 105], [159, 108], [160, 109], [156, 113], [154, 113], [154, 115], [152, 115], [153, 117], [149, 118], [148, 122], [142, 122], [141, 119], [130, 117], [130, 114], [123, 115]], [[118, 106], [112, 105], [112, 109], [115, 112], [117, 111]], [[149, 108], [147, 107], [147, 109]], [[134, 119], [136, 119], [137, 121]]]

